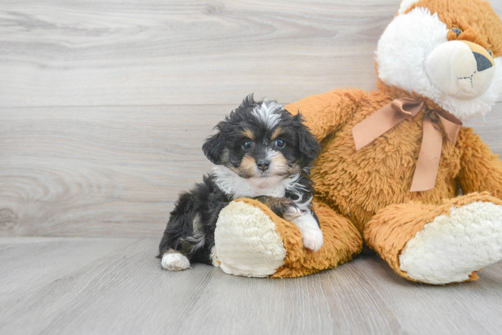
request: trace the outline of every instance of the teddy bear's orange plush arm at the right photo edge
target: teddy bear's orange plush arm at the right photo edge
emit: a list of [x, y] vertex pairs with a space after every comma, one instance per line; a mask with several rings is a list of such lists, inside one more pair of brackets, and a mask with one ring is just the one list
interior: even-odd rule
[[457, 145], [462, 149], [458, 178], [465, 194], [488, 191], [502, 199], [502, 162], [472, 128], [462, 128]]

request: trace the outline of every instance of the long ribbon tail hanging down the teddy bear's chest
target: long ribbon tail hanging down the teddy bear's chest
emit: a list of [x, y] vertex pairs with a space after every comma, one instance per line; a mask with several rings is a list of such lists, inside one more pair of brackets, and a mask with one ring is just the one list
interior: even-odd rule
[[423, 139], [419, 159], [416, 162], [410, 192], [427, 191], [434, 188], [443, 146], [443, 134], [429, 117], [423, 121]]

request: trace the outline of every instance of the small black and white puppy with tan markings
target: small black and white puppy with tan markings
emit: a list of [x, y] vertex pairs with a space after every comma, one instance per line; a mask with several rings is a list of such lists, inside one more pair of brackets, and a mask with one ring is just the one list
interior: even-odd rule
[[203, 183], [181, 194], [159, 245], [162, 266], [184, 270], [190, 262], [218, 266], [214, 233], [221, 209], [238, 197], [252, 197], [300, 229], [305, 248], [323, 244], [312, 210], [310, 166], [320, 145], [302, 123], [276, 101], [242, 104], [218, 123], [202, 150], [216, 166]]

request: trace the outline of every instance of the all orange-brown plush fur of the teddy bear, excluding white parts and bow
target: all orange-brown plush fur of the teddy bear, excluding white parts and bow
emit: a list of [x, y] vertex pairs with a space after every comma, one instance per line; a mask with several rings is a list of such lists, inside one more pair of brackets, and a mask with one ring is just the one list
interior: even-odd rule
[[[502, 22], [487, 2], [421, 0], [413, 5], [427, 7], [448, 28], [461, 28], [458, 39], [469, 40], [502, 55]], [[457, 38], [449, 34], [449, 39]], [[443, 136], [435, 187], [409, 192], [423, 137], [422, 121], [429, 116], [440, 128], [433, 101], [381, 80], [377, 91], [334, 90], [307, 97], [286, 106], [292, 114], [304, 115], [307, 126], [322, 143], [322, 152], [312, 170], [317, 192], [315, 210], [321, 221], [324, 245], [318, 253], [302, 248], [298, 228], [266, 208], [277, 224], [287, 251], [286, 262], [272, 277], [296, 277], [336, 266], [361, 251], [365, 243], [400, 269], [399, 255], [406, 243], [453, 206], [474, 201], [502, 205], [502, 162], [488, 146], [463, 127], [453, 146]], [[352, 128], [393, 99], [410, 97], [425, 102], [414, 118], [399, 123], [359, 151], [355, 151]], [[464, 196], [459, 196], [461, 188]], [[484, 192], [488, 193], [475, 193]], [[475, 273], [470, 280], [477, 279]]]

